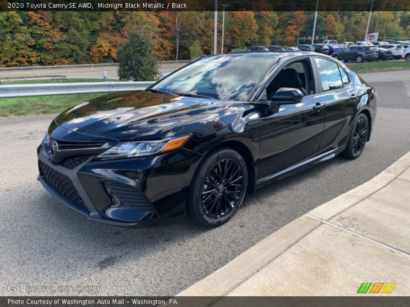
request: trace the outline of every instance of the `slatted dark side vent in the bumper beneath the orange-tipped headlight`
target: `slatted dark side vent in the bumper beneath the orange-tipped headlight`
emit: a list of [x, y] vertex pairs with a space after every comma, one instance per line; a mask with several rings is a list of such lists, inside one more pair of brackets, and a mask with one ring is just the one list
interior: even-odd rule
[[151, 211], [152, 207], [139, 191], [133, 187], [116, 183], [114, 181], [106, 182], [108, 187], [115, 193], [115, 195], [126, 204], [128, 207], [141, 210], [141, 211]]

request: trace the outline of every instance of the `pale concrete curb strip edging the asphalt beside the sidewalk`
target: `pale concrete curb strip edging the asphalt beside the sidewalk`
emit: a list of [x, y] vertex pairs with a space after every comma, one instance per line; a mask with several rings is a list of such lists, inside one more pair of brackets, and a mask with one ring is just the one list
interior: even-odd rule
[[410, 152], [407, 152], [371, 180], [296, 218], [177, 296], [208, 296], [203, 303], [212, 304], [319, 227], [322, 224], [319, 220], [329, 221], [363, 201], [398, 178], [409, 167]]

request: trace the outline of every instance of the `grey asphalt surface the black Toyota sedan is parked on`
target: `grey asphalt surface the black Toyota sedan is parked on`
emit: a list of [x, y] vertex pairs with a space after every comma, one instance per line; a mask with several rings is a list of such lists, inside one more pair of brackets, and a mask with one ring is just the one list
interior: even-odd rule
[[8, 291], [11, 283], [99, 286], [99, 295], [175, 295], [295, 218], [371, 179], [410, 150], [410, 73], [362, 77], [376, 86], [379, 107], [362, 156], [337, 157], [260, 189], [228, 224], [212, 230], [184, 216], [149, 229], [89, 222], [36, 180], [35, 149], [53, 116], [0, 119], [0, 295], [21, 294]]

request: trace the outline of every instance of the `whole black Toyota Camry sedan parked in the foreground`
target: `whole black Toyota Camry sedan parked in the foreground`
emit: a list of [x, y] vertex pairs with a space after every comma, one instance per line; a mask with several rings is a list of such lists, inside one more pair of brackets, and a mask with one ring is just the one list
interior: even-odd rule
[[218, 226], [246, 192], [338, 153], [359, 157], [375, 117], [373, 87], [329, 56], [216, 55], [57, 116], [38, 179], [93, 221], [136, 227], [187, 212]]

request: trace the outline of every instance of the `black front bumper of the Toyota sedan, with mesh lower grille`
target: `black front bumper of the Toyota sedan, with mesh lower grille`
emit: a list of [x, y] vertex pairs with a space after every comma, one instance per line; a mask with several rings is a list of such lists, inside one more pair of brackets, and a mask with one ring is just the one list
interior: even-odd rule
[[94, 155], [56, 163], [43, 145], [37, 151], [38, 180], [54, 198], [91, 221], [121, 227], [163, 225], [185, 211], [202, 157], [181, 148], [152, 157], [94, 161]]

